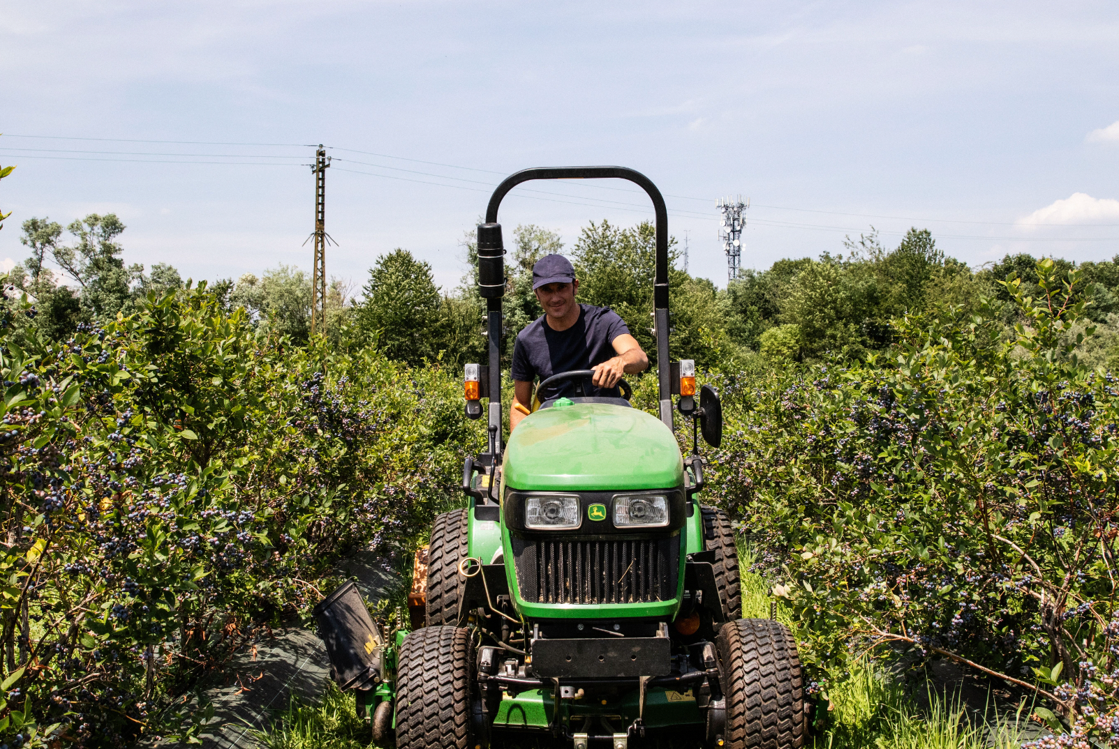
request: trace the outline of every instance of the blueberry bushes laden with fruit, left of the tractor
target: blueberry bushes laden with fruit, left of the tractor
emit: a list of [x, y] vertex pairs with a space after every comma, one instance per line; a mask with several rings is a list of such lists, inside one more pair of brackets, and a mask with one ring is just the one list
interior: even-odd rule
[[205, 284], [58, 342], [6, 305], [0, 746], [197, 740], [199, 677], [348, 549], [406, 557], [477, 440], [438, 364], [293, 345]]

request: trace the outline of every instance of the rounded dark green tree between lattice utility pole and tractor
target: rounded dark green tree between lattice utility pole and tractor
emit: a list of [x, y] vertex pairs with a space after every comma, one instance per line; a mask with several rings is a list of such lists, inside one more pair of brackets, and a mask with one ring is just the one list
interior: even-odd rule
[[392, 359], [410, 364], [434, 359], [440, 341], [440, 294], [431, 266], [397, 247], [369, 268], [357, 309], [357, 328]]

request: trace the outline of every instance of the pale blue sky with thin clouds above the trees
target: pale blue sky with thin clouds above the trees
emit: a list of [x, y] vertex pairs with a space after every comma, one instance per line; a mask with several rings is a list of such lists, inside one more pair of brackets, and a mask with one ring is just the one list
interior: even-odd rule
[[[124, 259], [195, 279], [327, 273], [404, 247], [452, 288], [501, 178], [619, 164], [666, 195], [689, 271], [910, 227], [972, 266], [1119, 254], [1115, 2], [0, 0], [0, 267], [20, 225], [115, 212]], [[499, 216], [560, 233], [652, 218], [626, 182], [534, 182]]]

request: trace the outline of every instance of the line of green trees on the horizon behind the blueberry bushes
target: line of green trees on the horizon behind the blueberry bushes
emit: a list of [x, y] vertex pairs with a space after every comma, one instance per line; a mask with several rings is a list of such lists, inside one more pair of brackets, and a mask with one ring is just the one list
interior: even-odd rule
[[[150, 273], [121, 257], [120, 219], [90, 215], [66, 229], [47, 219], [23, 222], [21, 241], [30, 257], [16, 266], [11, 283], [35, 303], [36, 328], [51, 340], [67, 336], [79, 323], [115, 319], [156, 296], [184, 287], [178, 271], [156, 264]], [[653, 228], [648, 222], [615, 227], [608, 221], [584, 227], [571, 246], [538, 226], [513, 231], [505, 300], [506, 347], [543, 311], [532, 291], [532, 267], [543, 255], [567, 255], [576, 267], [582, 302], [613, 307], [650, 354]], [[443, 361], [455, 367], [485, 359], [485, 304], [477, 294], [472, 240], [461, 244], [469, 271], [454, 288], [440, 288], [430, 264], [397, 248], [376, 260], [357, 287], [333, 278], [326, 300], [327, 335], [338, 341], [376, 345], [392, 359], [419, 364]], [[727, 288], [677, 269], [678, 248], [670, 240], [673, 350], [687, 351], [704, 367], [732, 370], [751, 360], [765, 363], [859, 359], [895, 342], [892, 320], [959, 307], [975, 312], [984, 298], [1002, 305], [1007, 325], [1018, 313], [1002, 282], [1017, 277], [1027, 294], [1038, 290], [1037, 259], [1007, 255], [981, 268], [947, 257], [928, 229], [910, 229], [894, 248], [873, 231], [848, 238], [843, 252], [818, 258], [782, 259], [768, 269], [744, 271]], [[47, 267], [53, 260], [57, 271]], [[1119, 257], [1082, 263], [1053, 259], [1056, 273], [1075, 268], [1085, 323], [1096, 335], [1082, 355], [1090, 363], [1119, 357]], [[244, 307], [251, 324], [305, 342], [310, 331], [311, 279], [281, 265], [261, 276], [208, 284], [226, 311]], [[650, 322], [646, 322], [650, 321]]]

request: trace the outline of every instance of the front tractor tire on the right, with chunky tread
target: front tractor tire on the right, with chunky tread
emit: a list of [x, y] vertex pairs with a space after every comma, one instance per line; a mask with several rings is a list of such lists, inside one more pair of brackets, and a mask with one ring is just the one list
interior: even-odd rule
[[800, 749], [803, 681], [789, 629], [770, 619], [727, 622], [715, 647], [726, 698], [725, 749]]

